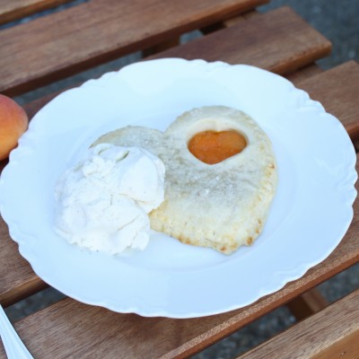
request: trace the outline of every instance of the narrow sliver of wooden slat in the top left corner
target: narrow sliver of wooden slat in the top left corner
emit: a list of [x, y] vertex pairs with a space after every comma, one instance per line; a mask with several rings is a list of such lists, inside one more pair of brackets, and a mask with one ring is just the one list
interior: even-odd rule
[[13, 22], [71, 0], [0, 0], [0, 24]]

